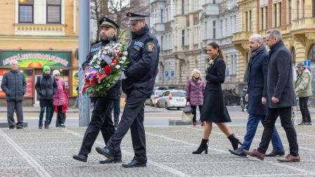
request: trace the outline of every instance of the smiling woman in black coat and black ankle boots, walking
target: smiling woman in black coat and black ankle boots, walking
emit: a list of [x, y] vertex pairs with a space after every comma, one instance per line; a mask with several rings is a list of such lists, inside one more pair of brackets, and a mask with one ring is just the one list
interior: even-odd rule
[[225, 124], [225, 122], [231, 122], [231, 119], [223, 101], [221, 88], [221, 83], [224, 83], [225, 80], [223, 52], [217, 43], [212, 42], [207, 45], [207, 54], [209, 55], [206, 69], [207, 85], [204, 91], [204, 104], [200, 116], [200, 120], [205, 121], [206, 126], [204, 127], [204, 138], [199, 148], [193, 154], [208, 153], [207, 143], [212, 130], [212, 122], [216, 123], [221, 131], [228, 136], [234, 150], [238, 148], [238, 144], [241, 144], [239, 139], [235, 137], [235, 134], [232, 134], [228, 125]]

